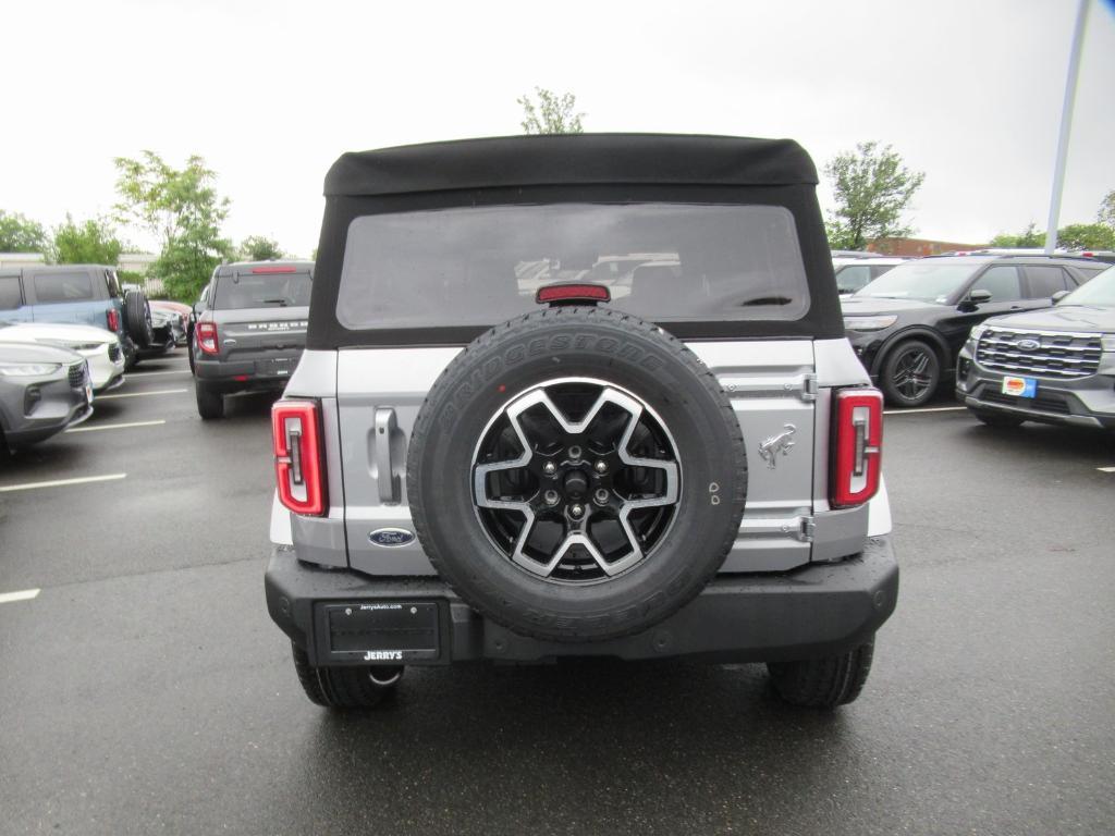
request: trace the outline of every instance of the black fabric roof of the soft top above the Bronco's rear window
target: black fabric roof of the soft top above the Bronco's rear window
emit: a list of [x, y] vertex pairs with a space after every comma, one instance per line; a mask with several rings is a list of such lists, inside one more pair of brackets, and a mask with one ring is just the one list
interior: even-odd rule
[[816, 185], [793, 139], [672, 134], [563, 134], [353, 152], [326, 175], [326, 195], [590, 184]]

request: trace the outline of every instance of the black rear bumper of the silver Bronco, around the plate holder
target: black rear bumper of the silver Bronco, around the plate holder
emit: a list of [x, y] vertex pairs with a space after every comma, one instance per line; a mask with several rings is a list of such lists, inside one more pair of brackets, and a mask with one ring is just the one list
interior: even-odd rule
[[586, 655], [760, 662], [831, 655], [861, 644], [894, 611], [899, 567], [890, 538], [872, 537], [861, 554], [842, 563], [780, 575], [718, 576], [650, 630], [582, 644], [518, 635], [477, 614], [440, 579], [371, 579], [320, 568], [300, 562], [290, 546], [272, 552], [264, 589], [271, 618], [318, 665], [365, 663], [351, 651], [334, 649], [326, 607], [375, 603], [436, 604], [436, 652], [418, 658], [406, 651], [406, 663]]

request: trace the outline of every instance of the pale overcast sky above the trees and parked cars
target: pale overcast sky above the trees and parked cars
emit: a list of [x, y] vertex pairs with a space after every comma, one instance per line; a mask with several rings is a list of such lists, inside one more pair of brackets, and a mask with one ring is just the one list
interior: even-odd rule
[[[588, 130], [793, 137], [818, 168], [889, 143], [925, 173], [917, 234], [980, 243], [1045, 225], [1076, 8], [4, 0], [0, 208], [104, 213], [114, 156], [201, 154], [226, 234], [308, 255], [341, 152], [516, 134], [541, 86], [574, 93]], [[1115, 2], [1092, 0], [1061, 224], [1113, 188]]]

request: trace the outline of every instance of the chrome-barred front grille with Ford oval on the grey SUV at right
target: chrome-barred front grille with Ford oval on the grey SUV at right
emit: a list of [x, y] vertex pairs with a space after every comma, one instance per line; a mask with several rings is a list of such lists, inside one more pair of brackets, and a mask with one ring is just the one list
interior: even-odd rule
[[[1036, 348], [1024, 349], [1030, 340]], [[1072, 331], [1016, 331], [988, 328], [976, 347], [976, 361], [985, 369], [1050, 378], [1084, 378], [1099, 368], [1097, 333]]]

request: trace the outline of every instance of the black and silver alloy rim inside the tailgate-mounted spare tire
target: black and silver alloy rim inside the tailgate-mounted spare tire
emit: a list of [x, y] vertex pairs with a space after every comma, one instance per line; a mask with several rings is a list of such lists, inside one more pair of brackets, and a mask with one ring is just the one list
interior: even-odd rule
[[680, 468], [640, 398], [591, 378], [549, 380], [488, 421], [473, 457], [492, 544], [551, 581], [607, 580], [649, 557], [673, 519]]

